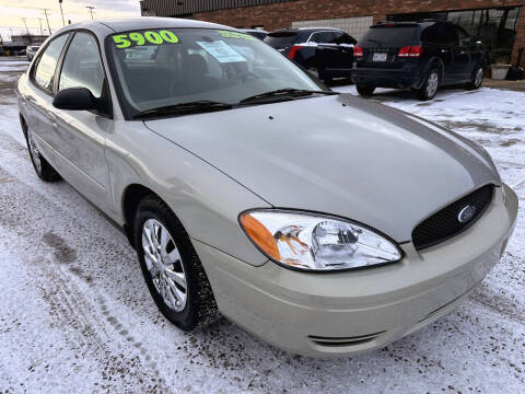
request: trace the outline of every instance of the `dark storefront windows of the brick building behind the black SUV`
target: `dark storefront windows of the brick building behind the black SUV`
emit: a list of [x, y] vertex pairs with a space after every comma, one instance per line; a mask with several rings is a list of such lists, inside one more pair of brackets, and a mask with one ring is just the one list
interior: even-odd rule
[[465, 28], [476, 40], [480, 40], [487, 49], [490, 62], [509, 62], [514, 39], [516, 24], [520, 16], [518, 7], [424, 12], [411, 14], [388, 15], [390, 21], [419, 21], [433, 19], [448, 21]]

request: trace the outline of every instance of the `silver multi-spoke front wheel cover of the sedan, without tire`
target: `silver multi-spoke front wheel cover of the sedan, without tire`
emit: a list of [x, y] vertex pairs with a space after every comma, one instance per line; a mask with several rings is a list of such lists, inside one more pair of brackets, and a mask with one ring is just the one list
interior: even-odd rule
[[171, 310], [180, 312], [188, 299], [188, 285], [177, 245], [167, 229], [155, 219], [142, 225], [144, 260], [156, 292]]

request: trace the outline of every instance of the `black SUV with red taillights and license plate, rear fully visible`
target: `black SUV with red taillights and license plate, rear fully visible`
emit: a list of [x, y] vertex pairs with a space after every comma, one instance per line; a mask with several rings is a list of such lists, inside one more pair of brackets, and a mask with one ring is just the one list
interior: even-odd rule
[[438, 88], [465, 83], [478, 89], [486, 57], [462, 27], [450, 22], [381, 22], [353, 48], [358, 92], [375, 88], [411, 88], [431, 100]]

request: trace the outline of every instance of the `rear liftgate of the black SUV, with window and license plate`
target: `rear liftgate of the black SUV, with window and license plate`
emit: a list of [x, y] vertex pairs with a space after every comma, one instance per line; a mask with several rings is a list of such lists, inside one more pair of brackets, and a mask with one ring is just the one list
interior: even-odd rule
[[364, 68], [401, 68], [407, 58], [399, 58], [402, 47], [411, 46], [418, 38], [420, 27], [417, 24], [385, 23], [372, 26], [358, 43], [363, 48]]

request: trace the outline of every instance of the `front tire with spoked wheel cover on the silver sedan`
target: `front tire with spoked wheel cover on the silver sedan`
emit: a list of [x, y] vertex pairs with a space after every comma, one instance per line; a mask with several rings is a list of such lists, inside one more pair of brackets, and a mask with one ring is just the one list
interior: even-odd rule
[[[156, 224], [160, 224], [158, 231]], [[208, 277], [173, 211], [156, 196], [145, 197], [139, 204], [133, 230], [142, 275], [162, 314], [184, 331], [214, 323], [220, 314]], [[161, 240], [165, 235], [167, 241], [163, 246]], [[161, 256], [156, 265], [152, 259], [155, 246], [156, 257]]]

